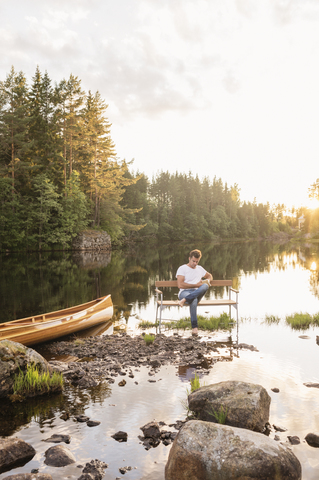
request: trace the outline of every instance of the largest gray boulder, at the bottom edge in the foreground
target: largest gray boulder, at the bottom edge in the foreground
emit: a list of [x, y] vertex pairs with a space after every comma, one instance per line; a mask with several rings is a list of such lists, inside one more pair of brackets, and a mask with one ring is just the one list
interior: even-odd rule
[[187, 422], [170, 450], [165, 480], [299, 480], [301, 465], [287, 447], [250, 430]]

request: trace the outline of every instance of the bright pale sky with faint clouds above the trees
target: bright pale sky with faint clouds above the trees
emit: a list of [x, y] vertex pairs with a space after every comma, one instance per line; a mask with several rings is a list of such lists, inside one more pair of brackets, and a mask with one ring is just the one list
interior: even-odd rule
[[0, 80], [77, 76], [119, 160], [309, 205], [319, 177], [318, 0], [0, 0]]

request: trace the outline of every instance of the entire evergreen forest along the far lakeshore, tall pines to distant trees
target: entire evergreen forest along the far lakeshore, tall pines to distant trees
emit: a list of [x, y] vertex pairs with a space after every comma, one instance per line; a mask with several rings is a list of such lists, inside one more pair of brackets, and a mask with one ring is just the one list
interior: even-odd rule
[[0, 81], [0, 250], [68, 249], [87, 228], [119, 245], [265, 238], [302, 214], [303, 228], [319, 229], [318, 215], [241, 202], [239, 186], [216, 177], [132, 171], [107, 107], [72, 74], [53, 84], [37, 67], [28, 84], [12, 67]]

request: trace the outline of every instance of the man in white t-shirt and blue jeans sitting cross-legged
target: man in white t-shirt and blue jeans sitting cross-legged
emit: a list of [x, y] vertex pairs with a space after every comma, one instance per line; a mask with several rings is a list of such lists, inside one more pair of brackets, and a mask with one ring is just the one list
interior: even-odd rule
[[[185, 303], [189, 305], [192, 324], [192, 335], [198, 336], [197, 328], [197, 305], [207, 292], [209, 282], [213, 280], [211, 273], [208, 273], [203, 267], [198, 265], [202, 253], [200, 250], [192, 250], [189, 254], [189, 262], [179, 267], [176, 272], [177, 286], [180, 289], [178, 293], [179, 305], [183, 307]], [[205, 283], [202, 279], [208, 280]]]

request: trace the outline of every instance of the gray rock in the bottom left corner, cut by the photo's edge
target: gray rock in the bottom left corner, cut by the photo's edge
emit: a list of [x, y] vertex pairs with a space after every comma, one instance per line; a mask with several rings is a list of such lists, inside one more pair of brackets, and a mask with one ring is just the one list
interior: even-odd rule
[[20, 438], [0, 438], [0, 473], [29, 462], [36, 451]]

